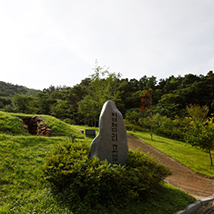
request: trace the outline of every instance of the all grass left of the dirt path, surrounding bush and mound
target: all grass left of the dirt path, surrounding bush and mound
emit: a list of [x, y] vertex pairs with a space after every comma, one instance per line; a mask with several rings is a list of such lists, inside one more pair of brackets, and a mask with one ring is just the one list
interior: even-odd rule
[[[31, 116], [23, 115], [22, 116]], [[71, 141], [67, 135], [77, 136], [75, 143], [86, 142], [80, 130], [86, 126], [71, 126], [54, 117], [40, 115], [51, 126], [55, 137], [31, 136], [23, 128], [16, 114], [0, 111], [0, 213], [71, 213], [63, 199], [53, 197], [40, 178], [45, 156], [56, 144]], [[58, 136], [57, 136], [58, 135]], [[171, 186], [163, 185], [155, 196], [128, 204], [123, 210], [85, 210], [85, 213], [175, 213], [195, 199]], [[72, 203], [72, 201], [71, 201]], [[81, 205], [80, 205], [81, 206]]]

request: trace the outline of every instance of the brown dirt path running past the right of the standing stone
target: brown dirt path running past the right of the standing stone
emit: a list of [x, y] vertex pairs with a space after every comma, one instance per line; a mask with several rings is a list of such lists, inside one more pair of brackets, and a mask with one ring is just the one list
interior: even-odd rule
[[189, 168], [130, 134], [127, 134], [127, 138], [130, 149], [135, 150], [140, 147], [140, 151], [149, 152], [173, 172], [165, 179], [166, 183], [172, 184], [196, 199], [210, 197], [214, 194], [214, 180], [195, 175]]

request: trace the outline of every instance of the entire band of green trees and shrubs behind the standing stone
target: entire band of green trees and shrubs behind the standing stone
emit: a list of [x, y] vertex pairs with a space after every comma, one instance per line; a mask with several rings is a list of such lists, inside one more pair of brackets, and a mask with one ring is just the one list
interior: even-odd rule
[[205, 76], [172, 75], [157, 80], [144, 75], [139, 80], [129, 80], [97, 65], [90, 78], [73, 87], [50, 86], [38, 92], [2, 82], [4, 100], [0, 108], [6, 112], [52, 115], [69, 124], [98, 126], [103, 104], [113, 100], [125, 118], [127, 130], [150, 131], [151, 138], [155, 132], [186, 141], [208, 152], [213, 165], [213, 83], [213, 71]]

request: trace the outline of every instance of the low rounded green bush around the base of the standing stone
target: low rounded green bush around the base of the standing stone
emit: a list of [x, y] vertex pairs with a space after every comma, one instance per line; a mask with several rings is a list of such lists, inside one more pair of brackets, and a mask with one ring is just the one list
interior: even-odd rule
[[[129, 151], [124, 166], [89, 158], [89, 145], [64, 143], [47, 156], [42, 178], [55, 195], [63, 193], [71, 210], [80, 207], [124, 207], [156, 192], [171, 172], [139, 151]], [[84, 206], [83, 206], [84, 205]]]

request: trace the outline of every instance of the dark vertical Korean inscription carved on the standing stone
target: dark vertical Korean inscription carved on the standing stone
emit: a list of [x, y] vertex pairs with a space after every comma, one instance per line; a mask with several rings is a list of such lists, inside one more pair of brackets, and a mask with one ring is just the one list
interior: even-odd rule
[[117, 150], [117, 113], [111, 114], [111, 140], [112, 144], [112, 163], [118, 164], [118, 150]]

